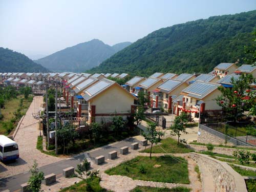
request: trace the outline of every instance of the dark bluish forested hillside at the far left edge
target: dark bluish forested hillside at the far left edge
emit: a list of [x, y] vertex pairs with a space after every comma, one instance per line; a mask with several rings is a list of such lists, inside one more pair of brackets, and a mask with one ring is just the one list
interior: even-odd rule
[[22, 53], [0, 48], [0, 72], [48, 72]]

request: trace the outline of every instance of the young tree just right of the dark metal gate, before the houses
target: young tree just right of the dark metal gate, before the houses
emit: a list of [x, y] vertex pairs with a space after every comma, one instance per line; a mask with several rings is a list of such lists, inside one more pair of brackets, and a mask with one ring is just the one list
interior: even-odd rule
[[188, 122], [188, 117], [184, 112], [182, 112], [179, 116], [177, 116], [175, 118], [174, 125], [172, 127], [170, 127], [170, 129], [172, 129], [170, 134], [172, 136], [176, 136], [176, 135], [178, 136], [177, 145], [179, 145], [179, 142], [186, 143], [186, 140], [184, 140], [184, 139], [180, 140], [180, 136], [181, 136], [181, 133], [187, 134], [187, 132], [186, 132], [186, 123], [187, 122]]

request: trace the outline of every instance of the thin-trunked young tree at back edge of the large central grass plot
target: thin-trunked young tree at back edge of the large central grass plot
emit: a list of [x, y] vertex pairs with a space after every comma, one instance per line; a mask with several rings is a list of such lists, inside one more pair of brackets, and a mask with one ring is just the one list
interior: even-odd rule
[[160, 142], [160, 137], [164, 136], [164, 133], [161, 131], [156, 130], [156, 123], [148, 122], [146, 131], [141, 132], [141, 135], [148, 141], [151, 142], [151, 148], [150, 148], [150, 158], [152, 154], [152, 147], [153, 144], [157, 144]]

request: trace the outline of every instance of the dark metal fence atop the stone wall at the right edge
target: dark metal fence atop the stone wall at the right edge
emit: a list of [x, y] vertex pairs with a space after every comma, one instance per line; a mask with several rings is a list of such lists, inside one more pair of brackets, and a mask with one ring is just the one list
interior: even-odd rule
[[221, 132], [229, 137], [242, 141], [252, 146], [256, 146], [256, 136], [253, 134], [253, 129], [250, 130], [245, 126], [231, 126], [227, 123], [217, 122], [217, 123], [203, 123], [205, 126], [211, 129]]

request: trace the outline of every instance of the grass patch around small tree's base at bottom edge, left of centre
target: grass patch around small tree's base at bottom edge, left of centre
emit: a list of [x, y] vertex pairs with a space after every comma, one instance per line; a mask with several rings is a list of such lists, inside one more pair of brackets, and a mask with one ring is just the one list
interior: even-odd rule
[[[103, 189], [100, 185], [100, 178], [95, 177], [92, 179], [91, 181], [91, 185], [92, 185], [92, 190], [94, 192], [106, 192], [108, 190]], [[86, 190], [86, 181], [80, 181], [74, 185], [71, 185], [69, 187], [63, 188], [62, 190], [60, 190], [60, 192], [87, 192], [88, 190]], [[88, 191], [89, 192], [89, 191]]]

